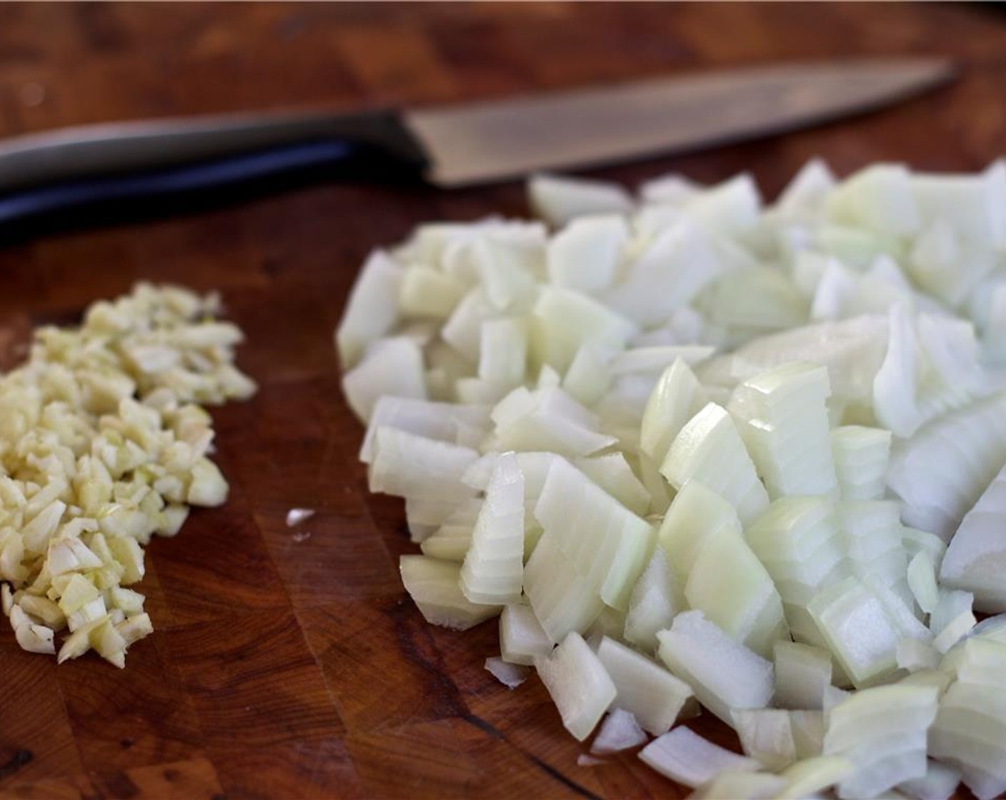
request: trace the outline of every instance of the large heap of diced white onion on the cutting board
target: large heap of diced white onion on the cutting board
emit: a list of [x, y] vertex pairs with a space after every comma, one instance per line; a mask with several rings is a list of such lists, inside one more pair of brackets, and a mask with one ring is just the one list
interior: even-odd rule
[[336, 332], [420, 611], [499, 617], [584, 764], [1006, 791], [1006, 162], [529, 190], [374, 252]]

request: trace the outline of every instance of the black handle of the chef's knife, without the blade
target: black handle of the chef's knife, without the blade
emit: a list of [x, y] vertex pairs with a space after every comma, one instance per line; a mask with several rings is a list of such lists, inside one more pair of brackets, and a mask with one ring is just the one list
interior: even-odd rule
[[[189, 213], [320, 181], [414, 181], [429, 166], [397, 116], [383, 112], [127, 124], [12, 142], [0, 145], [4, 242]], [[4, 172], [5, 160], [19, 169]]]

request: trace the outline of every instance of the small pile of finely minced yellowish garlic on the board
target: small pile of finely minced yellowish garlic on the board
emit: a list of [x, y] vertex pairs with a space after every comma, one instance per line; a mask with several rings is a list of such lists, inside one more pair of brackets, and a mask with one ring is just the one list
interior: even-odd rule
[[25, 650], [62, 662], [94, 649], [122, 667], [152, 632], [127, 589], [144, 576], [143, 545], [227, 495], [199, 404], [256, 388], [218, 307], [138, 284], [79, 328], [35, 331], [27, 362], [0, 376], [0, 595]]

